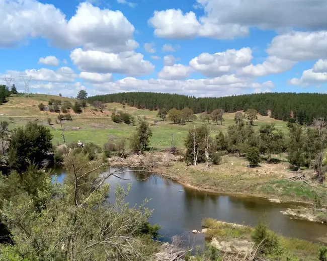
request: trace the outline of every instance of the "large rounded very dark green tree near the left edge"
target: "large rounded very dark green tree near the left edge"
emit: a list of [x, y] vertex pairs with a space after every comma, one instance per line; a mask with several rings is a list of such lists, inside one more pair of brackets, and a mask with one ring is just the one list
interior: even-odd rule
[[35, 122], [18, 127], [9, 143], [8, 160], [11, 167], [23, 171], [30, 164], [39, 165], [52, 149], [50, 130]]

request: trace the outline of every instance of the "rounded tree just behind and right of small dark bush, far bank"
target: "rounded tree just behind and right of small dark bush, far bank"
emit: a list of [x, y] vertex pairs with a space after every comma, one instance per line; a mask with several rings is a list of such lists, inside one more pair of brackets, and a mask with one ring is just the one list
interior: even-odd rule
[[268, 160], [272, 153], [281, 153], [285, 147], [284, 135], [277, 131], [275, 124], [264, 124], [259, 129], [260, 151], [268, 154]]

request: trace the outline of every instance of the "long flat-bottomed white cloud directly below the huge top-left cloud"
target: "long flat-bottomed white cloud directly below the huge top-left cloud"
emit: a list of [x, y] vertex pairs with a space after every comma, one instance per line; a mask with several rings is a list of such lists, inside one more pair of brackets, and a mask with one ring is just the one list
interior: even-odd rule
[[143, 60], [143, 55], [134, 51], [105, 53], [101, 51], [84, 51], [80, 48], [70, 53], [72, 63], [81, 71], [99, 73], [121, 73], [141, 76], [153, 71], [154, 65]]

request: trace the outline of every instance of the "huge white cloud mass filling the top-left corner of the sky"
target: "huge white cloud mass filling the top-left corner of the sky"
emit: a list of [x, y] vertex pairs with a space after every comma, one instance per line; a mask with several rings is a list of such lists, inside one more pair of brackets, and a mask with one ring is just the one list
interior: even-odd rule
[[83, 46], [121, 52], [138, 47], [133, 40], [134, 26], [120, 11], [81, 3], [67, 21], [59, 9], [36, 0], [0, 0], [0, 7], [0, 47], [13, 47], [38, 37], [68, 49]]

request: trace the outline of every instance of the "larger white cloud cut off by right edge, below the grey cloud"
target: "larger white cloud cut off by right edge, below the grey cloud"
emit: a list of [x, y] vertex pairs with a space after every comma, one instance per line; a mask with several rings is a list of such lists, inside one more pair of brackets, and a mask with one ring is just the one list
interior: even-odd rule
[[327, 58], [327, 31], [291, 32], [278, 35], [272, 40], [267, 53], [293, 61]]

